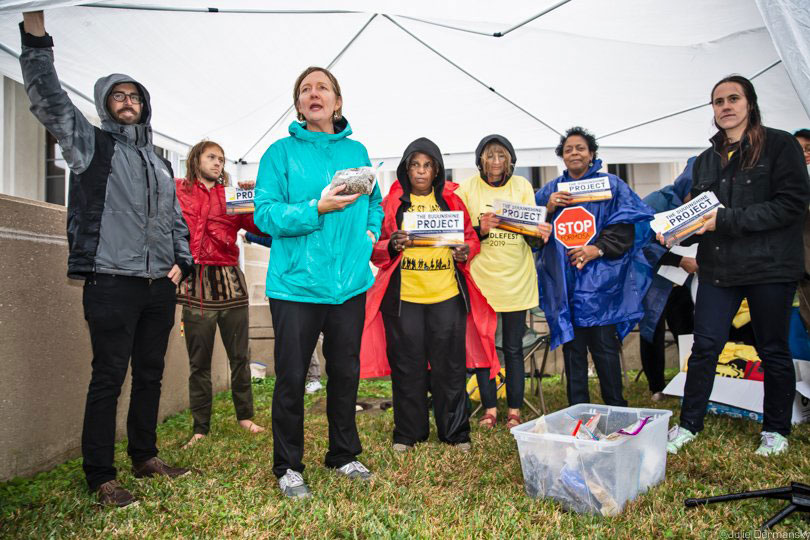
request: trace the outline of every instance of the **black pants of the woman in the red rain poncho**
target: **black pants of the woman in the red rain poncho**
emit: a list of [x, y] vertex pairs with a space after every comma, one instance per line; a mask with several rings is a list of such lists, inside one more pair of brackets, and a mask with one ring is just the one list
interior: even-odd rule
[[439, 440], [469, 442], [466, 321], [460, 295], [436, 304], [402, 302], [399, 317], [383, 314], [394, 393], [395, 443], [412, 445], [427, 440], [428, 377]]

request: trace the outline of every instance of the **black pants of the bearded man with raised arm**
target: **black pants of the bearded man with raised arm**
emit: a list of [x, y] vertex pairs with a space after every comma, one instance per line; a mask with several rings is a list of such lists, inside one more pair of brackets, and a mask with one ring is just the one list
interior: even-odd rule
[[127, 453], [133, 462], [157, 455], [163, 359], [174, 326], [175, 285], [168, 278], [96, 274], [84, 284], [93, 371], [82, 429], [82, 467], [91, 490], [115, 479], [113, 453], [118, 396], [132, 358]]

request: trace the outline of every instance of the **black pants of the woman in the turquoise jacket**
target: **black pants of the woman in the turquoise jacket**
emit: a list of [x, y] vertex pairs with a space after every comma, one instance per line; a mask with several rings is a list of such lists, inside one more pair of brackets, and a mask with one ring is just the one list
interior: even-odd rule
[[276, 386], [273, 391], [273, 473], [301, 472], [304, 464], [304, 386], [312, 351], [323, 332], [326, 360], [327, 467], [342, 467], [362, 452], [355, 423], [360, 382], [360, 338], [366, 295], [342, 304], [310, 304], [270, 299], [276, 334]]

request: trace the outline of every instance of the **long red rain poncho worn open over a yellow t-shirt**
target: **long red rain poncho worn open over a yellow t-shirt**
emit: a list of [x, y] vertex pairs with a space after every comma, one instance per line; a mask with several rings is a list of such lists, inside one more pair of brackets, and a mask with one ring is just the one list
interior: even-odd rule
[[[467, 314], [467, 367], [489, 367], [490, 377], [495, 377], [501, 368], [498, 355], [495, 353], [497, 316], [470, 275], [469, 262], [481, 251], [481, 243], [472, 228], [467, 208], [458, 195], [453, 193], [457, 187], [457, 184], [446, 182], [442, 195], [451, 211], [461, 210], [464, 212], [464, 240], [470, 246], [470, 255], [467, 262], [456, 263], [456, 267], [467, 281], [470, 296], [470, 312]], [[398, 228], [396, 213], [401, 203], [399, 199], [401, 196], [402, 186], [400, 186], [399, 182], [394, 182], [388, 195], [383, 199], [382, 205], [385, 217], [383, 218], [382, 231], [380, 232], [380, 239], [371, 252], [371, 262], [378, 266], [380, 270], [377, 272], [374, 285], [371, 286], [366, 295], [366, 321], [360, 347], [361, 378], [383, 377], [391, 373], [386, 353], [385, 327], [383, 326], [382, 313], [380, 313], [380, 303], [388, 289], [391, 275], [399, 266], [399, 261], [402, 258], [401, 252], [395, 259], [391, 259], [388, 253], [388, 242], [391, 233]]]

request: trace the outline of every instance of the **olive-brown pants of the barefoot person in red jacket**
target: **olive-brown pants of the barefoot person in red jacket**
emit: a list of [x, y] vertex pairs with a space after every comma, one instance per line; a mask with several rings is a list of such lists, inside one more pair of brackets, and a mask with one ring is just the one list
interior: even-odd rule
[[216, 311], [183, 307], [183, 327], [188, 350], [188, 400], [194, 433], [207, 435], [211, 429], [211, 356], [219, 335], [231, 366], [231, 395], [237, 420], [253, 418], [253, 390], [248, 365], [248, 307]]

